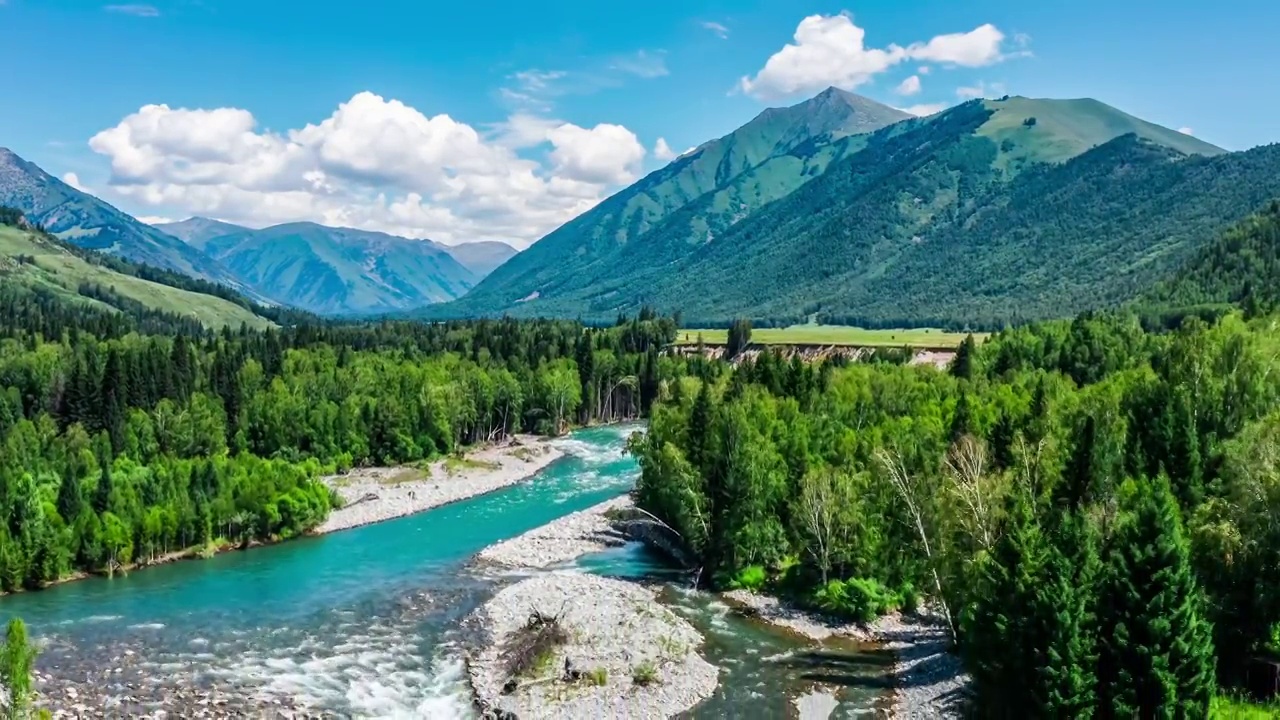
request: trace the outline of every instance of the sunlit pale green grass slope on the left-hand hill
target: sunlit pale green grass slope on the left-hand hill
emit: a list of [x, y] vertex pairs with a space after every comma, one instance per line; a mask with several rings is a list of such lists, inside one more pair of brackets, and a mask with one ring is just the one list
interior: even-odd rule
[[[33, 256], [36, 265], [13, 263], [18, 255]], [[270, 320], [221, 297], [178, 290], [86, 263], [67, 250], [17, 228], [0, 227], [0, 268], [12, 273], [0, 277], [54, 290], [72, 301], [97, 304], [81, 296], [76, 290], [82, 282], [90, 282], [114, 287], [120, 295], [148, 307], [193, 315], [212, 328], [239, 327], [241, 323], [247, 323], [252, 328], [265, 328], [271, 324]]]

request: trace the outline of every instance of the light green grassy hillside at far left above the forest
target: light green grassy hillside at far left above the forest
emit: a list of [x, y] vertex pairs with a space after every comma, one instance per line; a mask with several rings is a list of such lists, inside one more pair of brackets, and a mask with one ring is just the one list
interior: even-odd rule
[[113, 301], [123, 297], [151, 310], [195, 318], [209, 328], [273, 324], [223, 297], [119, 273], [91, 260], [38, 232], [0, 225], [0, 286], [27, 287], [111, 310], [119, 310]]

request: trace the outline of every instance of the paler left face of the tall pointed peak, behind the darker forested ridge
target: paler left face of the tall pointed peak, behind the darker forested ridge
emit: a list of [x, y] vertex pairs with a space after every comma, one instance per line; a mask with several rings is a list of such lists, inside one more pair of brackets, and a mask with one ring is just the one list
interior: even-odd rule
[[535, 293], [589, 287], [609, 275], [623, 249], [646, 245], [653, 227], [699, 201], [696, 222], [671, 243], [672, 252], [685, 252], [820, 174], [844, 155], [844, 146], [836, 145], [842, 138], [908, 118], [836, 88], [790, 108], [764, 110], [544, 237], [448, 311], [500, 311]]

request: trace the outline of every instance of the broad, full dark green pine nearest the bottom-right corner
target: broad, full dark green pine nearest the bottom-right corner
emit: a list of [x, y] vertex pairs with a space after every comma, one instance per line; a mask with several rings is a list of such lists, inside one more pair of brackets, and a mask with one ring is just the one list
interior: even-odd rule
[[1100, 716], [1199, 719], [1216, 689], [1178, 505], [1164, 475], [1140, 483], [1111, 539], [1100, 594]]

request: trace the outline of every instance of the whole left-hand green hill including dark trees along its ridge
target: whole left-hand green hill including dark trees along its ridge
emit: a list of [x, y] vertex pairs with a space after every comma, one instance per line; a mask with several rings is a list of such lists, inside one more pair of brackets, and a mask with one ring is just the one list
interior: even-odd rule
[[58, 305], [86, 315], [116, 314], [127, 325], [146, 318], [166, 325], [265, 328], [283, 314], [225, 286], [70, 245], [9, 208], [0, 208], [0, 296], [14, 313], [19, 304]]

